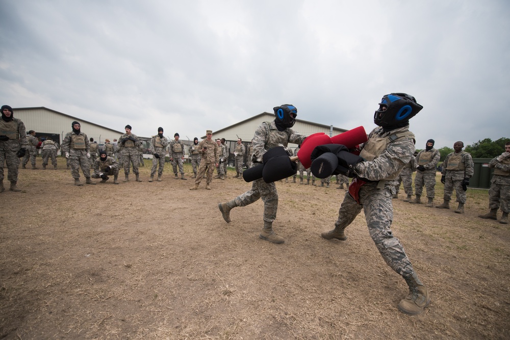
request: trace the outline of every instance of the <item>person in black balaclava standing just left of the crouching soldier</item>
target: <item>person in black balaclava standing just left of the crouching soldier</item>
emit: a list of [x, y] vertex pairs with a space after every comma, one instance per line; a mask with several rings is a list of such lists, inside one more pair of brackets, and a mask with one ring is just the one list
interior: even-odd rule
[[87, 135], [80, 131], [81, 126], [79, 122], [73, 121], [71, 127], [72, 131], [68, 132], [64, 137], [62, 149], [65, 152], [65, 158], [69, 159], [74, 185], [83, 186], [80, 182], [79, 168], [82, 168], [83, 175], [85, 176], [85, 183], [95, 185], [95, 183], [90, 180], [90, 142], [87, 139]]

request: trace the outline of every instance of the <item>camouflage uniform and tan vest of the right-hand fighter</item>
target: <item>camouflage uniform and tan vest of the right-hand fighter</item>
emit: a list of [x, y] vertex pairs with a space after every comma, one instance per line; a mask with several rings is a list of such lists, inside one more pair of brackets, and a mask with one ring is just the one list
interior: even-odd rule
[[335, 222], [335, 231], [343, 233], [363, 209], [370, 237], [377, 250], [388, 266], [404, 278], [411, 277], [414, 270], [400, 241], [393, 236], [391, 230], [392, 196], [395, 192], [395, 178], [405, 164], [411, 161], [414, 151], [414, 135], [409, 132], [409, 125], [386, 133], [382, 127], [372, 130], [360, 154], [367, 161], [354, 166], [354, 173], [368, 180], [359, 189], [360, 203], [346, 192]]

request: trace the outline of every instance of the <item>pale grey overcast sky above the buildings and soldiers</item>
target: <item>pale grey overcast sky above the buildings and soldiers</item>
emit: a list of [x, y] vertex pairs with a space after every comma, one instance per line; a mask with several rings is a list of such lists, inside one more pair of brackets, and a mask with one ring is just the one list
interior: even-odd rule
[[510, 137], [507, 0], [0, 0], [0, 13], [12, 107], [193, 139], [283, 103], [369, 132], [382, 95], [406, 92], [424, 107], [418, 148]]

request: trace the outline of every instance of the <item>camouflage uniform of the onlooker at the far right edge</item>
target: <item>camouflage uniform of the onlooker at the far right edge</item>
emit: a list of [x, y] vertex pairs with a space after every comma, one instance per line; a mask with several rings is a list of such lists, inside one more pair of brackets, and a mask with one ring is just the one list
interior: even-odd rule
[[510, 158], [498, 161], [494, 158], [489, 162], [489, 168], [494, 168], [494, 175], [489, 189], [489, 208], [498, 209], [503, 213], [510, 213]]

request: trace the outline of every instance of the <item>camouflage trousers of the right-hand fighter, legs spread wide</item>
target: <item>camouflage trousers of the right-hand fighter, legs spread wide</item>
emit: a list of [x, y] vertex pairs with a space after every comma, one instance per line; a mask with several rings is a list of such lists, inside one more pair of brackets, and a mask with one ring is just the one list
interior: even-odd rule
[[349, 192], [345, 193], [335, 226], [342, 230], [345, 229], [363, 208], [370, 237], [386, 264], [403, 277], [413, 275], [411, 261], [405, 255], [404, 248], [400, 241], [393, 236], [390, 228], [393, 221], [391, 202], [393, 194], [390, 186], [386, 185], [385, 189], [377, 189], [376, 183], [366, 184], [360, 188], [359, 194], [362, 204], [356, 203]]

